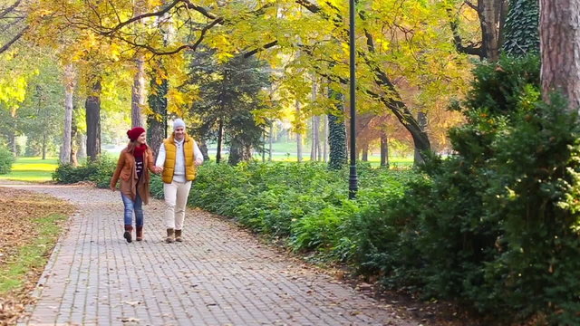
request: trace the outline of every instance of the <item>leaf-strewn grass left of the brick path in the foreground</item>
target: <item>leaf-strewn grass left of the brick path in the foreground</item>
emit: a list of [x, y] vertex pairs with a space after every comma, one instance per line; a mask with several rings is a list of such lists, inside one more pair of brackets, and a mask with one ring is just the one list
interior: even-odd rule
[[32, 302], [30, 293], [72, 212], [62, 200], [0, 187], [0, 324], [15, 324]]

